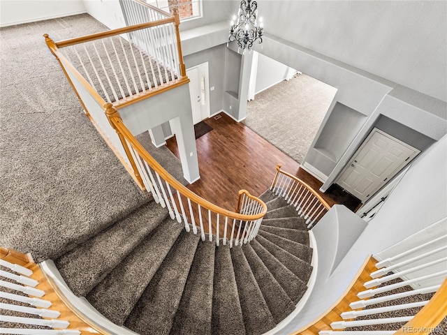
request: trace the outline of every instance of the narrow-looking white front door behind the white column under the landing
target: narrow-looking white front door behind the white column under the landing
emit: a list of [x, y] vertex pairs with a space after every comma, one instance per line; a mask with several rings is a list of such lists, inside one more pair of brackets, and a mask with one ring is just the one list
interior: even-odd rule
[[189, 77], [189, 95], [193, 110], [193, 124], [210, 117], [210, 86], [208, 84], [208, 63], [186, 70]]

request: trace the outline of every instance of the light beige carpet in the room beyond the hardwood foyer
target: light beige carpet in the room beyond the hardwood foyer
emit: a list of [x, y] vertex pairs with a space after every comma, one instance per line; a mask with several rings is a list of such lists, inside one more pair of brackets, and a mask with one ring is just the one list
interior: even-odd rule
[[244, 124], [302, 163], [336, 91], [309, 75], [295, 75], [256, 94]]

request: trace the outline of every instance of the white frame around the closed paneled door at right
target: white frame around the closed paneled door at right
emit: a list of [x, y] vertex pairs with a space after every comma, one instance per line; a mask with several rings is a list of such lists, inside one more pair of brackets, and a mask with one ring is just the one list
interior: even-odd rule
[[[367, 200], [372, 199], [374, 197], [374, 195], [386, 184], [388, 184], [391, 179], [393, 179], [393, 177], [395, 177], [395, 175], [397, 173], [399, 173], [400, 171], [402, 171], [403, 168], [406, 167], [406, 165], [408, 165], [411, 161], [413, 161], [413, 158], [415, 158], [416, 156], [418, 156], [418, 154], [420, 154], [420, 150], [416, 149], [415, 147], [412, 147], [410, 144], [403, 142], [402, 140], [399, 140], [398, 138], [394, 137], [393, 135], [390, 135], [388, 133], [385, 133], [384, 131], [381, 131], [379, 128], [372, 128], [372, 131], [369, 132], [369, 134], [367, 135], [367, 137], [365, 138], [365, 140], [363, 140], [362, 144], [360, 144], [360, 147], [358, 147], [358, 149], [356, 150], [356, 152], [354, 152], [354, 154], [351, 156], [351, 158], [349, 158], [349, 162], [346, 163], [346, 165], [344, 166], [343, 170], [338, 174], [337, 179], [335, 179], [334, 184], [338, 184], [339, 180], [342, 179], [342, 176], [344, 174], [344, 172], [346, 170], [349, 169], [349, 167], [351, 166], [351, 164], [353, 164], [354, 159], [356, 158], [356, 156], [358, 155], [358, 153], [360, 151], [362, 151], [362, 149], [365, 147], [365, 145], [368, 143], [368, 141], [371, 139], [371, 137], [375, 134], [375, 133], [380, 133], [383, 136], [389, 137], [391, 140], [394, 140], [397, 143], [402, 144], [404, 147], [407, 147], [411, 150], [413, 150], [413, 154], [411, 154], [411, 156], [409, 156], [409, 158], [406, 159], [406, 161], [402, 162], [401, 165], [399, 165], [393, 172], [391, 172], [391, 174], [387, 177], [387, 179], [385, 181], [382, 181], [381, 184], [379, 184], [378, 186], [376, 186], [376, 188], [373, 188], [373, 191], [370, 192], [371, 197], [370, 198], [366, 198], [366, 199], [360, 199], [363, 203], [366, 203]], [[342, 187], [342, 186], [340, 186]], [[349, 193], [349, 191], [346, 191]]]

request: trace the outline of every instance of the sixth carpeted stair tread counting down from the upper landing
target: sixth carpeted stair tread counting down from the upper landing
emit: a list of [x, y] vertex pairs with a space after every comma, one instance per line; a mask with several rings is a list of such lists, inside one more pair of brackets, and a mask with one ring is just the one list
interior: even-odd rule
[[241, 246], [230, 249], [231, 259], [239, 293], [245, 331], [249, 335], [267, 332], [275, 326], [272, 313], [263, 297], [263, 293], [256, 283], [256, 278], [250, 269], [249, 262], [244, 256]]

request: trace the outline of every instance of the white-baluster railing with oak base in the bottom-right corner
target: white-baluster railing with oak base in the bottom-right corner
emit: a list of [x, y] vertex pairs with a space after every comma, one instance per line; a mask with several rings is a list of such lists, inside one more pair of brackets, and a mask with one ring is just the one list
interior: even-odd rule
[[[416, 246], [386, 260], [381, 253], [369, 256], [345, 294], [321, 317], [293, 335], [430, 334], [434, 331], [447, 316], [447, 233], [425, 243], [419, 239], [416, 238]], [[401, 292], [408, 286], [412, 290]], [[431, 299], [420, 296], [432, 293]], [[402, 298], [409, 301], [397, 301]], [[411, 309], [420, 307], [417, 313]], [[399, 316], [381, 315], [389, 312]], [[393, 324], [402, 322], [406, 323], [393, 329]], [[369, 330], [377, 325], [379, 328]]]

